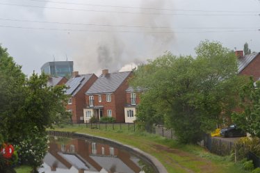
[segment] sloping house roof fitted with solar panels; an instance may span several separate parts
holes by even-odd
[[[65,94],[71,94],[74,96],[81,88],[83,85],[85,85],[88,80],[91,78],[92,75],[95,74],[81,74],[79,76],[71,78],[67,83],[65,84],[69,89],[66,90]]]

